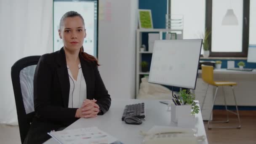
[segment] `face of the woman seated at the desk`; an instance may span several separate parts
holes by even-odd
[[[59,37],[69,51],[80,50],[86,37],[82,19],[79,16],[67,17],[59,29]]]

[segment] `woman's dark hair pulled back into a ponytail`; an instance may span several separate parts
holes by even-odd
[[[68,18],[68,17],[75,17],[75,16],[79,16],[82,19],[83,26],[85,27],[85,21],[83,19],[83,16],[80,15],[80,13],[77,13],[76,11],[68,11],[67,13],[65,13],[61,17],[61,21],[59,22],[59,29],[61,29],[61,26],[64,25],[64,21],[65,21],[66,18]],[[82,58],[85,61],[95,62],[99,66],[98,60],[94,56],[91,56],[88,53],[84,52],[83,46],[80,48],[79,54],[82,56]]]

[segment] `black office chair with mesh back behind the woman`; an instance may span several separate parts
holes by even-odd
[[[11,80],[16,102],[21,143],[29,131],[34,110],[34,74],[40,56],[22,58],[11,67]]]

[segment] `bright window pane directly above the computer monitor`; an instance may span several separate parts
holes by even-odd
[[[184,3],[189,7],[184,6]],[[183,15],[183,39],[203,38],[205,0],[171,0],[171,15]],[[203,54],[203,49],[201,54]]]

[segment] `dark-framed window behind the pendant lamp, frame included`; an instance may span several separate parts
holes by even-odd
[[[238,25],[221,25],[233,9]],[[246,57],[248,51],[248,0],[206,0],[206,27],[211,29],[210,56]]]

